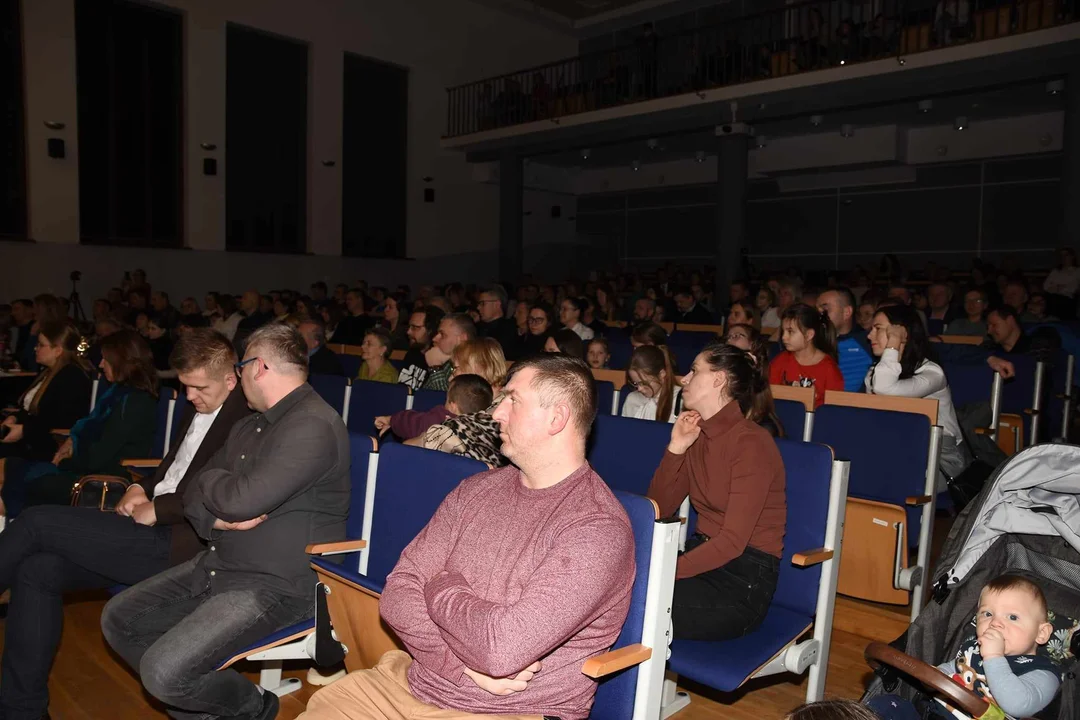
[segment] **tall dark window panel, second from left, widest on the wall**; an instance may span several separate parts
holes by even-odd
[[[183,18],[121,0],[77,0],[82,242],[183,241]]]

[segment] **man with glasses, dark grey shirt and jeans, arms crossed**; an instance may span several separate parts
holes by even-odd
[[[283,323],[266,325],[235,369],[255,415],[184,493],[206,549],[112,598],[102,616],[109,644],[173,717],[276,717],[273,692],[215,668],[312,615],[305,548],[345,533],[349,435],[307,383],[303,339]]]

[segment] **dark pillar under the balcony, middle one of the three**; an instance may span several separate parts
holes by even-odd
[[[742,275],[746,247],[746,163],[750,127],[730,123],[716,127],[716,284],[717,310],[727,308],[731,283]]]

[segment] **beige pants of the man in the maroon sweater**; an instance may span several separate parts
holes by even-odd
[[[407,652],[392,650],[369,670],[350,673],[316,692],[300,716],[306,720],[542,720],[538,715],[476,715],[444,710],[413,697]]]

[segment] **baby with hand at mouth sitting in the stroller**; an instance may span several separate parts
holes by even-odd
[[[1042,589],[1023,575],[999,575],[980,593],[974,635],[964,638],[954,661],[937,669],[1013,717],[1034,716],[1061,685],[1057,666],[1036,654],[1053,630]],[[885,720],[919,717],[895,695],[874,697],[869,707]],[[937,717],[954,717],[944,704],[931,707]]]

